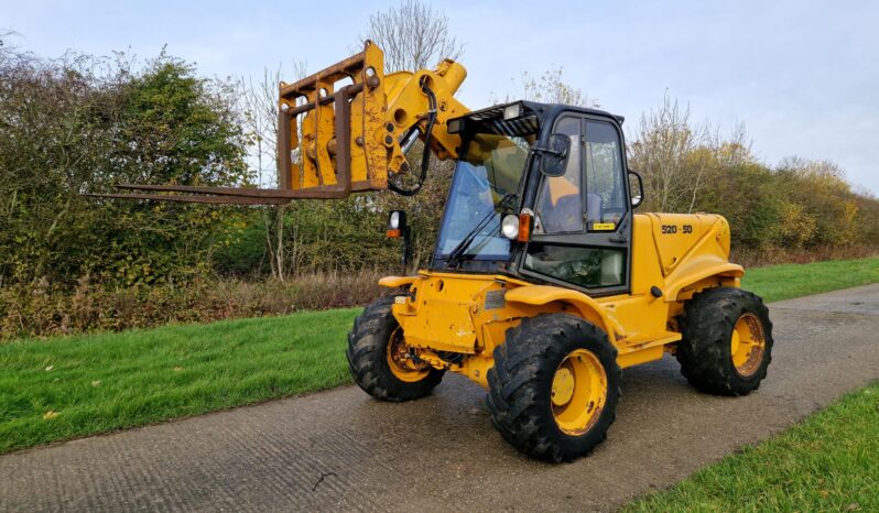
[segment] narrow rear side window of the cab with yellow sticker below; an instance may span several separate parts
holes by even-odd
[[[612,124],[586,121],[586,218],[589,230],[612,230],[628,211],[620,140]]]

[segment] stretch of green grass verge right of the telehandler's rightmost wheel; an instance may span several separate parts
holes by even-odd
[[[879,258],[749,269],[742,288],[773,302],[879,282]]]

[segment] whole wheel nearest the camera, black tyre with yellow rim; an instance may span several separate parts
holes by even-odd
[[[488,371],[488,408],[501,436],[540,459],[571,461],[604,440],[620,392],[607,335],[571,315],[522,319]]]

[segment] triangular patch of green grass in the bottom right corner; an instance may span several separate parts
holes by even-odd
[[[879,383],[622,509],[879,511]]]

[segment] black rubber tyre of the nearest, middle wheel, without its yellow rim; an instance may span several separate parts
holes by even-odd
[[[560,462],[587,455],[607,437],[622,395],[617,350],[607,335],[579,317],[544,314],[522,319],[506,338],[495,348],[495,367],[488,371],[487,404],[495,427],[534,458]],[[590,351],[600,362],[607,388],[597,421],[584,433],[571,435],[555,421],[551,394],[560,364],[578,349]]]

